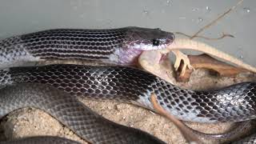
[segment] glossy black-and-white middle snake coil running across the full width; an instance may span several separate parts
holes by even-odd
[[[84,98],[131,102],[153,110],[150,95],[170,114],[190,122],[241,122],[255,118],[256,84],[193,91],[124,66],[50,65],[0,71],[1,86],[39,82]]]

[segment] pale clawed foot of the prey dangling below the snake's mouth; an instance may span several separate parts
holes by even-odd
[[[176,60],[174,63],[174,69],[178,70],[178,67],[181,66],[181,62],[184,62],[184,65],[182,66],[181,75],[184,75],[186,72],[186,67],[190,70],[194,70],[194,67],[190,65],[190,59],[187,57],[186,54],[183,54],[180,50],[171,50],[175,56]]]

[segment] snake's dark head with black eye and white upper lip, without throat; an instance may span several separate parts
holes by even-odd
[[[164,49],[174,41],[173,33],[159,28],[129,27],[126,34],[126,46],[137,50]]]

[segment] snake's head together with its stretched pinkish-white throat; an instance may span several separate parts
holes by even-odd
[[[143,51],[164,50],[174,41],[174,34],[160,29],[128,27],[121,47],[110,54],[110,61],[122,65],[138,66]]]

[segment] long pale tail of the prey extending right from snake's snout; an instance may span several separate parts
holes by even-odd
[[[216,58],[220,58],[226,62],[230,62],[245,70],[249,70],[251,72],[256,73],[256,67],[250,66],[249,64],[242,62],[242,60],[238,58],[234,58],[234,56],[231,56],[230,54],[226,54],[221,50],[217,50],[213,46],[207,45],[206,43],[203,43],[203,42],[194,41],[189,38],[176,38],[174,39],[174,42],[172,42],[169,46],[167,46],[167,49],[168,50],[181,50],[181,49],[197,50],[206,54],[210,54],[211,56],[214,56]]]

